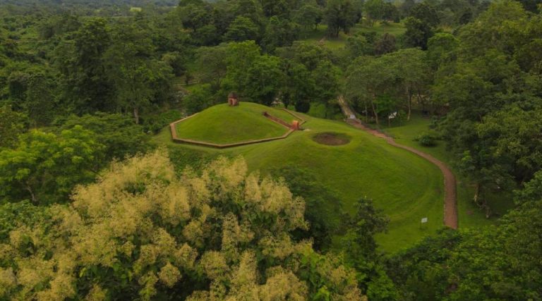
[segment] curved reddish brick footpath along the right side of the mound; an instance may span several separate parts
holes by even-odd
[[[358,118],[355,117],[356,115],[354,111],[350,108],[347,102],[344,101],[343,97],[339,97],[338,102],[342,108],[344,115],[347,116],[346,122],[349,125],[352,125],[355,128],[359,128],[360,130],[365,130],[367,133],[371,133],[376,137],[383,138],[387,141],[388,144],[393,145],[394,147],[406,149],[411,153],[417,154],[418,156],[421,156],[423,159],[430,161],[431,163],[438,166],[438,168],[440,168],[440,171],[442,171],[442,175],[444,176],[444,224],[445,226],[448,226],[450,228],[457,229],[458,222],[456,182],[454,173],[450,171],[450,168],[448,168],[446,164],[442,163],[442,161],[435,159],[435,157],[431,156],[430,154],[420,152],[418,149],[407,147],[406,145],[400,145],[395,142],[392,137],[385,135],[384,133],[380,133],[378,130],[373,130],[366,127],[365,125],[363,125],[363,123],[361,123]]]

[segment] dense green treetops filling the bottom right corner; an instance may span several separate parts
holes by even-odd
[[[392,259],[389,274],[404,300],[536,300],[541,204],[522,205],[498,227],[443,231]]]

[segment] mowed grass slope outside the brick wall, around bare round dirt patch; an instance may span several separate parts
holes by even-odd
[[[442,228],[443,180],[436,166],[342,122],[308,115],[303,118],[307,121],[303,125],[306,130],[292,133],[287,139],[230,149],[177,145],[171,142],[167,128],[153,140],[186,154],[243,156],[251,171],[263,174],[287,166],[306,168],[336,193],[350,214],[354,214],[358,199],[369,197],[391,219],[388,232],[378,235],[381,248],[387,252],[409,247]],[[313,141],[313,135],[324,132],[341,133],[352,139],[341,146]],[[420,227],[423,217],[429,219],[426,228]],[[330,216],[339,218],[339,212]]]

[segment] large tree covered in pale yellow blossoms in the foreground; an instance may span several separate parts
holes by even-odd
[[[0,299],[362,300],[340,258],[291,238],[304,206],[243,159],[176,176],[135,156],[0,240]]]

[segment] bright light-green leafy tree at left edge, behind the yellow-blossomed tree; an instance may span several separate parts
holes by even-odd
[[[95,178],[103,145],[80,125],[56,136],[33,130],[0,152],[0,196],[33,204],[65,202],[73,187]]]

